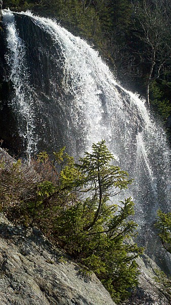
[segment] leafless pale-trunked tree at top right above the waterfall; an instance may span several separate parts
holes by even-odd
[[[158,78],[166,62],[171,58],[169,0],[136,1],[133,11],[135,36],[143,42],[142,55],[149,63],[146,80],[146,98],[149,105],[149,87],[154,72],[155,78]]]

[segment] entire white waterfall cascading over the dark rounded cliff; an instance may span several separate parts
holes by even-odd
[[[9,104],[25,152],[65,145],[78,158],[92,142],[105,139],[117,164],[134,179],[127,195],[136,203],[140,240],[150,244],[156,210],[166,211],[170,202],[170,152],[162,128],[84,40],[30,12],[3,11],[3,22],[13,84]]]

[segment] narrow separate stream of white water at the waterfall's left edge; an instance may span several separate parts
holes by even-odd
[[[14,15],[11,12],[4,13],[4,22],[7,26],[9,49],[6,60],[10,67],[10,74],[7,76],[7,80],[13,83],[14,88],[11,106],[18,117],[20,136],[27,142],[25,153],[30,156],[36,149],[35,126],[33,124],[35,113],[31,110],[32,100],[29,99],[31,88],[29,87],[29,76],[24,60],[25,48],[18,36]]]

